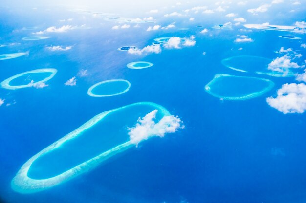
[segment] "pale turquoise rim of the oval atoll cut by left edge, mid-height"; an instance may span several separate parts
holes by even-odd
[[[30,83],[26,84],[26,85],[11,85],[10,82],[16,78],[19,78],[23,75],[26,74],[39,74],[39,73],[50,73],[49,76],[45,77],[42,80],[39,81],[31,81]],[[36,69],[36,70],[32,70],[32,71],[27,71],[27,72],[23,72],[21,74],[16,74],[12,77],[9,77],[7,79],[5,79],[4,81],[1,82],[1,87],[8,89],[8,90],[16,90],[16,89],[21,89],[21,88],[28,88],[28,87],[38,87],[40,84],[43,84],[44,82],[50,80],[52,77],[54,77],[54,75],[57,73],[57,70],[54,68],[44,68],[44,69]]]

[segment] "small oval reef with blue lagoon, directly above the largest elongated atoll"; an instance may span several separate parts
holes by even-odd
[[[131,83],[128,80],[113,79],[98,82],[91,86],[87,94],[93,97],[116,96],[128,92]]]

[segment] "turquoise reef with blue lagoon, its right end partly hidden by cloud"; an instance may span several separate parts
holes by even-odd
[[[272,60],[269,58],[253,56],[253,55],[233,56],[225,58],[221,61],[221,63],[227,68],[239,72],[265,74],[272,77],[294,76],[294,73],[290,69],[287,69],[285,73],[269,70],[268,65],[271,62]]]

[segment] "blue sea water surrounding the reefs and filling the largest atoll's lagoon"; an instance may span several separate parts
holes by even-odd
[[[131,24],[129,29],[112,30],[116,24],[101,18],[83,18],[83,14],[62,8],[40,9],[29,14],[22,9],[0,8],[0,44],[17,43],[0,47],[0,54],[29,51],[28,55],[0,61],[0,81],[35,69],[58,70],[42,89],[0,89],[0,98],[5,99],[0,106],[0,199],[4,203],[306,201],[306,114],[283,114],[265,100],[274,96],[282,84],[295,82],[294,77],[243,73],[221,63],[222,59],[239,55],[272,59],[279,56],[274,51],[282,46],[305,55],[305,49],[297,40],[278,37],[285,35],[281,31],[240,31],[243,26],[233,27],[233,30],[211,29],[215,24],[227,22],[219,16],[196,22],[176,20],[176,28],[188,27],[189,30],[147,32],[151,24],[140,24],[140,28],[132,28],[134,24]],[[288,18],[281,14],[274,17],[275,24],[292,24],[305,20],[305,13]],[[51,26],[60,27],[67,23],[58,21],[64,18],[74,18],[70,24],[86,24],[90,29],[47,33],[44,36],[50,38],[43,40],[22,40],[33,32],[22,30],[23,27],[37,26],[35,32]],[[251,19],[254,23],[268,19],[264,15],[249,18],[250,23]],[[159,23],[167,25],[174,21],[167,20]],[[203,28],[198,25],[209,28],[211,35],[199,34]],[[139,29],[137,34],[135,29]],[[234,43],[237,34],[248,35],[254,42]],[[131,55],[117,50],[127,45],[142,48],[158,37],[191,35],[196,36],[195,46],[163,49],[160,54]],[[305,35],[294,35],[305,43]],[[46,49],[57,45],[71,45],[72,49],[58,52]],[[243,47],[241,51],[240,47]],[[134,61],[148,61],[154,65],[139,70],[126,67]],[[256,68],[253,63],[249,66]],[[87,76],[77,76],[81,70],[87,70]],[[220,100],[204,90],[216,74],[261,77],[270,79],[275,85],[253,99]],[[64,83],[74,76],[77,76],[77,85],[65,86]],[[128,80],[131,87],[128,92],[113,97],[87,94],[89,87],[109,79]],[[44,191],[22,194],[12,190],[12,179],[32,156],[99,113],[144,101],[162,105],[172,115],[179,116],[185,128],[163,138],[143,141],[89,172]],[[8,103],[11,105],[6,106]],[[140,112],[114,114],[109,123],[84,134],[88,139],[93,137],[92,140],[79,140],[72,143],[71,148],[62,148],[65,156],[59,152],[50,153],[50,157],[37,161],[29,176],[45,178],[57,174],[80,160],[83,162],[88,154],[126,141],[125,130],[132,126],[132,120],[136,122],[139,116],[143,117],[145,111]],[[112,138],[96,137],[101,131]],[[101,148],[98,142],[102,143]],[[87,146],[94,146],[97,151],[88,151]],[[69,157],[71,151],[73,155]],[[61,157],[56,157],[57,153]],[[60,166],[51,170],[50,167],[57,163]]]

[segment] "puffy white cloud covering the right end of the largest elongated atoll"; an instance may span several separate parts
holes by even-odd
[[[179,117],[164,116],[157,123],[155,122],[158,110],[145,115],[143,118],[138,118],[134,127],[128,128],[130,141],[138,145],[141,141],[147,140],[150,137],[164,137],[166,133],[174,133],[180,128],[184,128]]]

